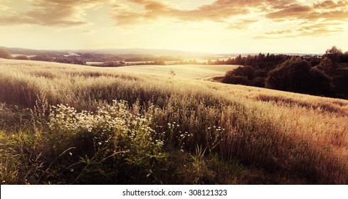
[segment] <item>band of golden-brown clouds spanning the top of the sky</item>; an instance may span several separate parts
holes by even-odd
[[[15,0],[19,1],[19,0]],[[29,0],[27,0],[29,1]],[[194,9],[184,9],[169,0],[41,0],[30,1],[28,11],[0,14],[0,26],[35,24],[40,26],[83,26],[87,9],[110,6],[110,19],[115,26],[133,27],[166,21],[168,24],[213,21],[233,30],[254,31],[253,28],[275,28],[259,37],[320,36],[339,33],[347,26],[348,0],[216,0]],[[309,3],[312,2],[312,3]],[[8,4],[0,5],[6,9]],[[16,8],[10,8],[16,11]],[[292,23],[294,30],[286,27]],[[336,24],[333,24],[336,23]],[[295,25],[294,25],[295,24]],[[321,27],[315,27],[319,26]],[[285,27],[284,27],[285,26]]]

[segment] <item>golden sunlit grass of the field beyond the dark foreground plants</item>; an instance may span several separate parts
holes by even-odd
[[[92,68],[0,59],[0,101],[33,107],[44,94],[49,104],[79,111],[113,99],[140,102],[146,111],[152,102],[159,107],[152,112],[158,131],[177,122],[176,131],[194,134],[187,150],[196,143],[213,148],[218,137],[214,150],[225,158],[307,183],[348,183],[348,101],[202,80],[233,67]]]

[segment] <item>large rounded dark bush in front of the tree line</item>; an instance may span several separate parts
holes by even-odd
[[[332,80],[301,58],[291,58],[268,73],[265,87],[311,95],[332,96]]]

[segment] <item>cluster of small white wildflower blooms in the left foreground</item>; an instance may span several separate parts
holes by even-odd
[[[132,114],[127,102],[97,107],[96,112],[77,112],[68,104],[51,107],[49,127],[65,136],[76,136],[88,132],[93,135],[96,154],[100,151],[124,151],[122,158],[136,166],[151,167],[151,160],[167,158],[162,150],[164,134],[152,127],[152,115]],[[105,149],[112,147],[113,149]],[[104,158],[107,154],[102,155]]]

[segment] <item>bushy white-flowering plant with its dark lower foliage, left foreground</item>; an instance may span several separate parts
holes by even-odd
[[[47,119],[41,122],[42,129],[49,129],[41,133],[46,146],[41,155],[54,162],[65,154],[54,169],[70,171],[64,177],[70,183],[129,183],[130,176],[154,183],[149,176],[167,160],[164,134],[154,130],[152,115],[133,114],[125,101],[113,100],[96,112],[58,104],[51,106]]]

